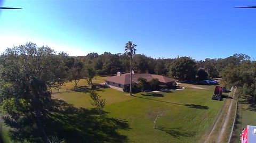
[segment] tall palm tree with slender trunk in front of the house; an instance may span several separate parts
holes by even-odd
[[[124,47],[124,51],[125,53],[130,56],[130,63],[131,63],[131,67],[130,67],[130,95],[132,95],[132,55],[135,55],[135,51],[137,51],[137,49],[135,49],[137,45],[136,44],[132,44],[132,41],[128,41],[127,43],[125,43],[125,47]]]

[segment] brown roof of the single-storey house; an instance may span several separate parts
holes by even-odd
[[[150,81],[153,78],[157,78],[160,82],[167,83],[167,82],[173,82],[175,81],[174,79],[164,77],[162,75],[156,75],[156,74],[149,74],[149,73],[141,73],[141,74],[132,74],[132,82],[133,83],[138,83],[138,78],[145,78],[147,81]],[[115,82],[119,83],[122,85],[129,85],[130,84],[130,74],[125,73],[122,74],[121,76],[113,76],[113,77],[108,77],[106,81],[110,82]]]

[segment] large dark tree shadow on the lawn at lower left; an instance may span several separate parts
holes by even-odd
[[[65,142],[127,142],[127,137],[118,130],[129,130],[129,124],[122,119],[101,116],[95,109],[76,108],[62,100],[51,100],[41,117],[47,137]],[[19,120],[4,118],[5,124],[12,127],[10,138],[16,142],[43,142],[42,134],[36,126],[33,115],[27,113]]]

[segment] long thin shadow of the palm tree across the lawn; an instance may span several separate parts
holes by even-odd
[[[142,94],[141,94],[141,95],[142,95]],[[203,106],[203,105],[199,105],[199,104],[180,104],[180,103],[166,102],[166,101],[163,101],[163,100],[145,98],[145,97],[140,97],[140,96],[135,96],[135,95],[132,95],[132,96],[137,97],[137,98],[147,99],[147,100],[154,100],[154,101],[156,101],[156,102],[163,102],[163,103],[169,103],[169,104],[187,106],[187,107],[189,107],[189,108],[196,108],[196,109],[200,109],[200,110],[208,110],[208,109],[209,109],[208,106]]]

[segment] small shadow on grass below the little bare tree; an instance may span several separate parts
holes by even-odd
[[[170,134],[170,136],[174,138],[179,137],[194,137],[196,135],[195,132],[188,132],[188,131],[182,131],[180,128],[164,128],[164,127],[158,127],[155,128],[157,130],[161,130],[166,132],[167,134]]]

